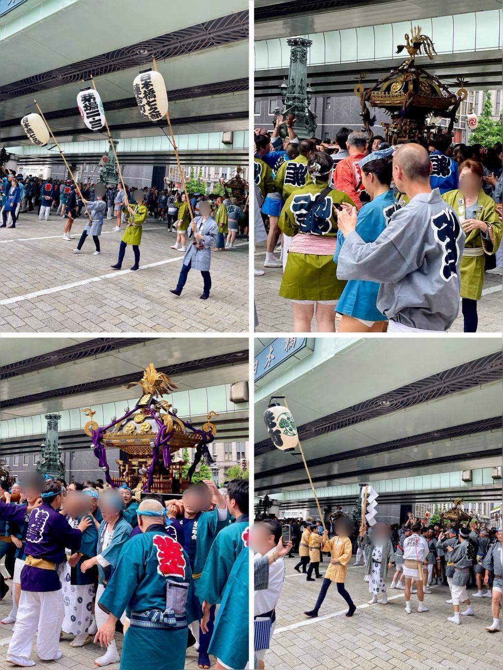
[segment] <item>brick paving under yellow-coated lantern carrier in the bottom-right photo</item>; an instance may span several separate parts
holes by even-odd
[[[389,588],[393,576],[390,571],[386,580],[388,604],[369,606],[364,567],[352,567],[353,556],[345,583],[358,606],[353,617],[344,616],[347,606],[332,584],[319,618],[308,619],[302,612],[315,605],[323,580],[306,582],[305,576],[293,569],[297,561],[298,558],[286,558],[287,576],[276,607],[272,645],[266,652],[267,669],[461,670],[477,667],[501,670],[498,651],[501,634],[490,635],[485,630],[492,623],[490,598],[472,598],[476,616],[461,617],[461,624],[456,626],[447,621],[447,616],[452,616],[452,606],[445,603],[449,589],[432,586],[433,593],[425,594],[429,612],[414,612],[417,597],[412,595],[412,614],[406,614],[404,592]],[[322,574],[327,567],[325,557],[324,561],[320,565]],[[364,607],[360,608],[361,605]],[[462,605],[461,610],[464,609]],[[306,622],[306,625],[282,630],[298,622]]]

